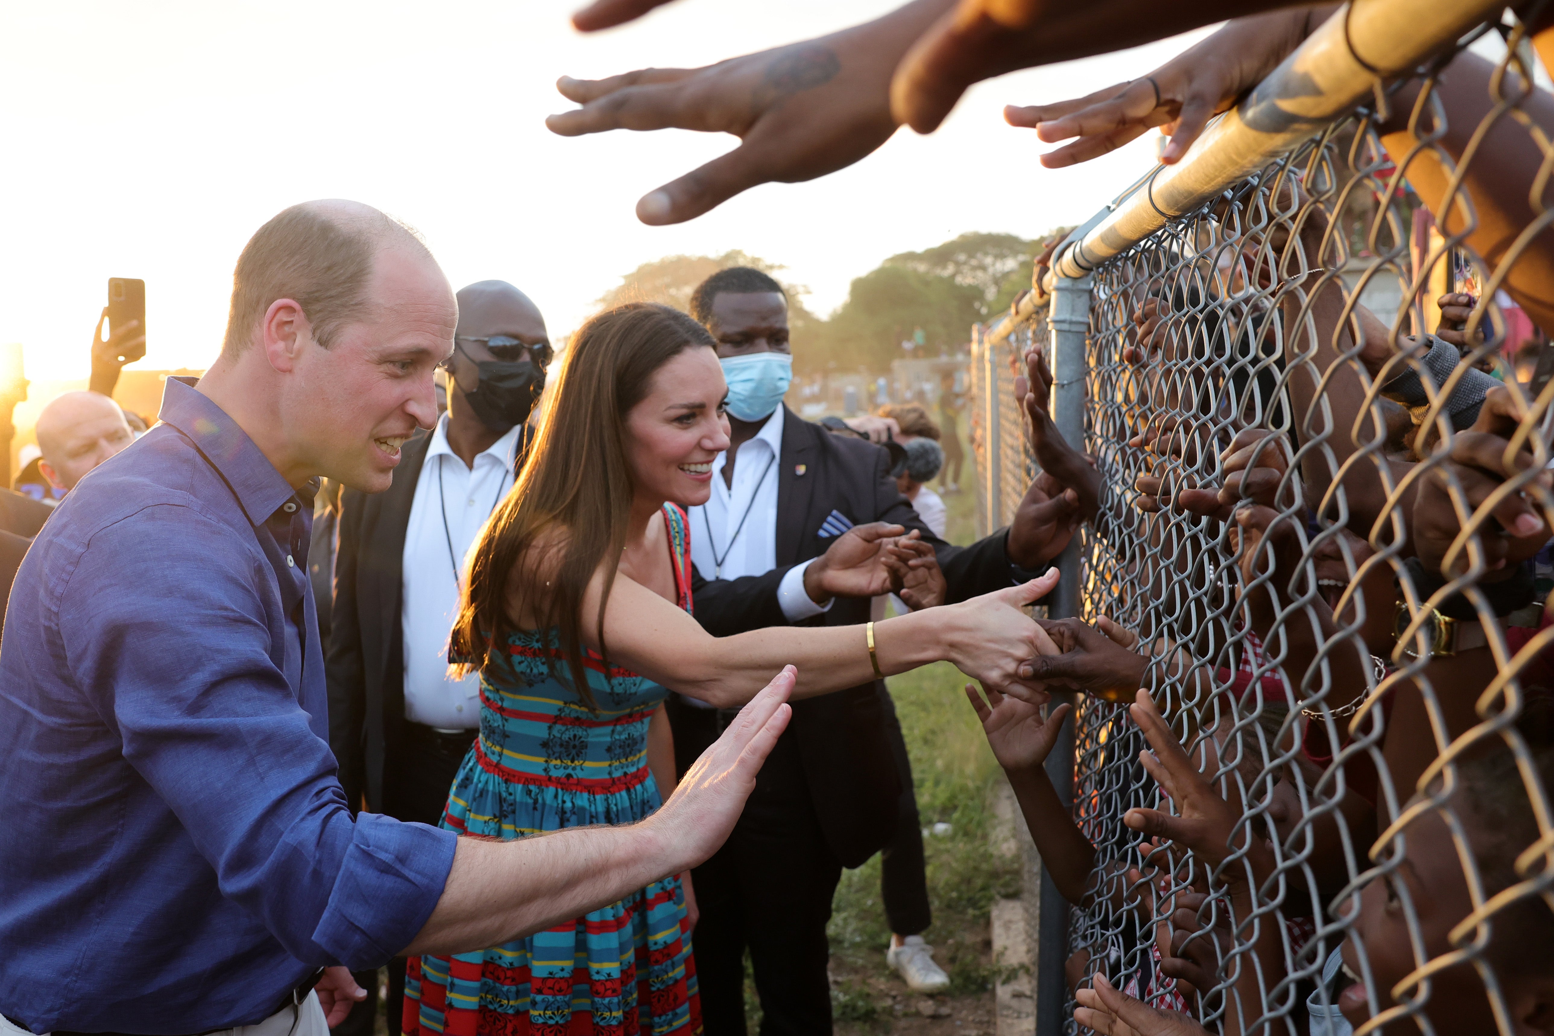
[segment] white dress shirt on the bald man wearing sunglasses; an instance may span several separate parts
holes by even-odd
[[[441,730],[480,725],[480,677],[449,677],[448,637],[458,612],[465,555],[513,488],[513,450],[521,432],[514,426],[477,454],[474,471],[448,446],[446,413],[432,432],[404,530],[399,621],[404,629],[404,714],[412,722]]]

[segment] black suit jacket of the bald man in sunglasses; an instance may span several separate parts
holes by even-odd
[[[401,447],[404,457],[385,491],[340,494],[325,676],[329,747],[351,809],[365,795],[367,809],[382,811],[384,764],[398,753],[404,733],[404,534],[430,443],[430,432],[416,432]],[[528,443],[525,426],[519,464]]]

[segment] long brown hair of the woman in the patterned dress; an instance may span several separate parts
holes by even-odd
[[[646,398],[660,367],[687,348],[702,346],[713,348],[706,328],[678,309],[651,303],[601,312],[572,335],[517,485],[480,531],[451,657],[483,669],[493,652],[502,651],[514,631],[511,579],[514,610],[535,615],[539,629],[559,631],[572,683],[583,702],[597,708],[583,666],[583,593],[603,562],[595,637],[605,654],[605,604],[631,519],[626,415]],[[541,539],[549,542],[556,531],[566,533],[558,559],[530,553],[536,545],[542,550]]]

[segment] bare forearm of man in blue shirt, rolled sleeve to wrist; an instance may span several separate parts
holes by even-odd
[[[651,820],[514,842],[458,839],[432,916],[401,955],[468,954],[580,918],[692,865]]]

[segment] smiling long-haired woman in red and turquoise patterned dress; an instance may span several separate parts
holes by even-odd
[[[1018,607],[1057,570],[869,635],[706,634],[690,617],[682,508],[710,495],[729,446],[726,393],[712,335],[667,306],[623,306],[573,335],[533,454],[471,553],[449,657],[480,671],[480,736],[441,826],[519,839],[645,819],[674,787],[668,688],[732,707],[788,663],[799,699],[949,660],[1018,690],[1023,662],[1055,654]],[[859,596],[887,589],[886,550],[880,541],[848,570]],[[699,1033],[688,892],[685,876],[665,874],[500,946],[412,960],[404,1028]]]

